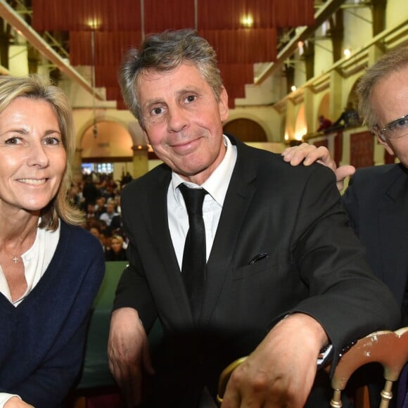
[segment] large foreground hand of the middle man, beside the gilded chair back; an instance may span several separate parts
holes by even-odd
[[[233,372],[222,408],[303,407],[328,338],[307,314],[291,314]]]

